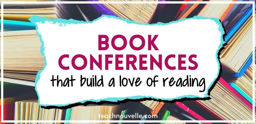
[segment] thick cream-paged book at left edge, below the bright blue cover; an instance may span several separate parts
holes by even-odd
[[[36,30],[5,32],[4,81],[34,86],[36,74],[44,66],[40,48]]]

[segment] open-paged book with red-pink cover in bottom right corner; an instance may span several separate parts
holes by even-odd
[[[211,99],[198,100],[203,106],[209,108],[224,120],[250,120],[252,119],[252,105],[222,78],[211,91]]]

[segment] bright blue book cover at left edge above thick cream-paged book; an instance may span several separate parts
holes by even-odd
[[[0,25],[0,28],[1,28],[1,25]],[[35,29],[36,29],[36,26],[31,22],[4,20],[4,30],[21,31],[21,30],[35,30]]]

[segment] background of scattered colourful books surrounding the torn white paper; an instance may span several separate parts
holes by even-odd
[[[4,4],[4,120],[252,120],[252,9],[252,4]],[[140,23],[167,23],[196,15],[219,18],[228,45],[220,53],[221,78],[211,91],[212,99],[175,103],[147,100],[69,109],[38,106],[34,81],[44,58],[35,26],[28,18],[39,15],[92,21],[103,14]],[[157,114],[158,118],[102,119],[99,113]]]

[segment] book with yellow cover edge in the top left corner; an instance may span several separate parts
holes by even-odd
[[[15,1],[15,0],[11,0]],[[29,0],[21,0],[29,1]],[[36,0],[55,1],[55,0]],[[82,15],[75,4],[4,4],[4,19],[29,21],[32,15],[47,18],[64,18],[83,20]]]

